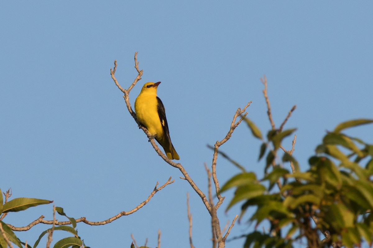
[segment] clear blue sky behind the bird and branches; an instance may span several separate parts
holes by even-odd
[[[91,247],[129,247],[148,238],[156,247],[189,247],[186,192],[191,198],[195,247],[210,247],[210,218],[203,203],[148,143],[126,110],[127,88],[134,104],[141,86],[162,81],[158,96],[166,107],[180,162],[206,191],[206,147],[229,130],[238,107],[253,101],[248,116],[270,128],[260,78],[265,74],[273,117],[279,125],[291,107],[287,128],[297,127],[295,157],[303,170],[326,130],[339,122],[372,118],[372,1],[3,1],[0,3],[0,187],[15,197],[54,200],[72,217],[108,219],[144,201],[157,181],[175,183],[159,191],[138,212],[104,226],[78,224]],[[133,105],[132,105],[133,106]],[[286,128],[285,127],[285,128]],[[351,135],[373,142],[372,126]],[[245,124],[222,151],[262,173],[260,143]],[[291,140],[284,144],[290,148]],[[238,173],[218,159],[220,183]],[[239,213],[220,208],[222,225]],[[11,213],[5,222],[28,225],[52,206]],[[245,220],[230,237],[249,232]],[[58,218],[64,220],[64,218]],[[17,233],[34,244],[47,229]],[[55,232],[55,240],[59,236]],[[43,241],[44,242],[44,241]],[[228,242],[241,247],[244,240]],[[44,243],[45,244],[45,243]],[[302,245],[300,245],[302,247]],[[43,247],[43,246],[42,246]]]

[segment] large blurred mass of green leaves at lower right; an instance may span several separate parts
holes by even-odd
[[[246,122],[254,137],[263,141],[259,160],[266,158],[264,177],[257,180],[254,173],[240,173],[222,191],[235,189],[228,209],[243,202],[240,219],[254,206],[250,222],[270,225],[264,228],[268,231],[248,233],[244,247],[292,247],[294,241],[302,238],[310,248],[332,243],[360,247],[363,241],[372,246],[373,145],[341,131],[373,120],[350,120],[337,125],[323,137],[304,172],[292,154],[279,149],[283,139],[295,129],[270,130],[264,141],[254,123]],[[292,172],[283,168],[282,162],[290,162]],[[323,233],[330,235],[325,238]]]

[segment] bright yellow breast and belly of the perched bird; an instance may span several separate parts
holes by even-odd
[[[137,119],[144,125],[151,135],[163,135],[163,128],[158,115],[157,95],[141,93],[135,101],[135,112]]]

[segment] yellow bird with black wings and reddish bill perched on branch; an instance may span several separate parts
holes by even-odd
[[[160,83],[148,82],[142,86],[135,101],[135,112],[139,122],[163,147],[167,158],[179,160],[180,157],[171,143],[163,103],[157,97],[157,87]]]

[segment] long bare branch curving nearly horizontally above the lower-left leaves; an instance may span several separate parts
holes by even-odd
[[[130,215],[134,212],[136,212],[137,210],[139,210],[141,207],[145,206],[145,204],[147,204],[150,199],[154,196],[154,194],[156,194],[158,191],[162,190],[164,187],[166,187],[167,185],[173,183],[175,180],[172,180],[171,181],[171,177],[167,180],[166,183],[164,183],[162,186],[160,186],[159,188],[157,188],[158,186],[158,182],[156,184],[156,187],[154,188],[154,190],[151,192],[150,196],[148,196],[148,198],[140,203],[137,207],[135,207],[134,209],[132,209],[131,211],[128,211],[128,212],[125,212],[125,211],[122,211],[120,213],[118,213],[117,215],[113,216],[112,218],[109,218],[107,220],[103,220],[103,221],[97,221],[97,222],[92,222],[92,221],[89,221],[87,219],[85,219],[85,217],[81,217],[79,219],[76,219],[76,222],[83,222],[83,223],[86,223],[88,225],[91,225],[91,226],[98,226],[98,225],[105,225],[107,223],[110,223],[110,222],[113,222],[114,220],[116,219],[119,219],[120,217],[122,216],[125,216],[125,215]],[[53,223],[57,226],[62,226],[62,225],[70,225],[71,222],[70,221],[59,221],[59,222],[54,222],[53,220],[44,220],[44,216],[40,216],[38,219],[34,220],[33,222],[31,222],[29,225],[27,226],[23,226],[23,227],[16,227],[16,226],[12,226],[12,225],[9,225],[7,224],[13,231],[27,231],[29,230],[30,228],[32,228],[33,226],[39,224],[39,223],[43,223],[43,224],[49,224],[49,225],[52,225]]]

